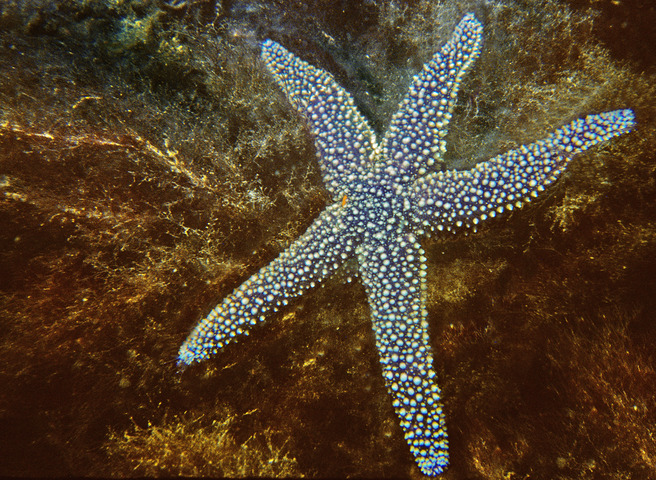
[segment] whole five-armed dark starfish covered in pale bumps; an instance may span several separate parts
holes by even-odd
[[[426,321],[426,258],[418,236],[459,231],[536,197],[571,158],[634,125],[631,110],[589,115],[546,139],[471,170],[428,172],[445,151],[460,81],[480,54],[481,23],[467,14],[424,65],[379,144],[334,78],[276,42],[262,59],[315,137],[334,203],[271,264],[200,321],[180,347],[181,367],[207,359],[268,314],[314,287],[352,256],[365,285],[387,390],[417,465],[448,465],[440,389]]]

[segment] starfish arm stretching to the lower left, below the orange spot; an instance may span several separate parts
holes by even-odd
[[[178,352],[185,367],[206,360],[251,326],[321,282],[352,256],[355,244],[340,204],[328,207],[273,262],[246,280],[201,320]]]

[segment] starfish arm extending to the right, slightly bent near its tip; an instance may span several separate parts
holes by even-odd
[[[541,140],[471,170],[436,172],[415,182],[409,204],[420,230],[456,232],[538,196],[584,150],[631,130],[631,110],[588,115]]]

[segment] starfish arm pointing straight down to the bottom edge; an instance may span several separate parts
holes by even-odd
[[[387,390],[425,475],[449,463],[445,417],[433,370],[425,308],[425,258],[413,234],[357,249]]]

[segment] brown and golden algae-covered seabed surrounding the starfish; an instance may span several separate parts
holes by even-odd
[[[638,126],[535,203],[426,243],[444,477],[653,476],[656,82],[601,44],[611,20],[552,1],[208,5],[2,7],[0,473],[418,476],[357,282],[174,361],[326,201],[255,40],[334,73],[381,128],[473,10],[485,47],[447,165],[587,113]]]

